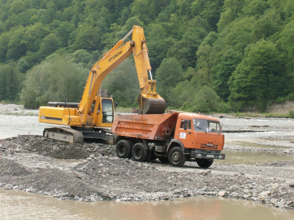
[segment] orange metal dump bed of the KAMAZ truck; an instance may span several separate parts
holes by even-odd
[[[111,131],[119,136],[164,141],[173,135],[178,114],[116,115]]]

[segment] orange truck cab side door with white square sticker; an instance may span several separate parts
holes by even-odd
[[[178,123],[176,126],[176,132],[175,132],[175,139],[178,139],[182,141],[185,147],[191,146],[191,143],[193,142],[193,132],[191,127],[191,120],[188,119],[188,126],[187,130],[184,130],[183,123],[181,121],[183,118],[178,118]],[[186,119],[187,120],[187,119]]]

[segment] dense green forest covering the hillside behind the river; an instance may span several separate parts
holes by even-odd
[[[0,0],[0,101],[79,102],[91,67],[137,25],[169,109],[266,112],[294,99],[293,13],[294,0]],[[102,89],[138,107],[132,57]]]

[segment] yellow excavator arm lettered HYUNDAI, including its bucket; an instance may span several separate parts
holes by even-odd
[[[131,34],[132,40],[126,42],[121,46],[123,41]],[[117,67],[123,60],[131,54],[134,55],[136,64],[139,85],[141,94],[138,97],[140,106],[140,114],[161,114],[166,109],[166,102],[155,91],[156,81],[152,79],[151,67],[148,58],[148,49],[146,46],[146,39],[144,37],[143,28],[133,26],[122,40],[118,41],[116,45],[105,53],[91,69],[87,79],[86,87],[83,92],[81,102],[78,105],[80,114],[83,114],[83,123],[86,122],[87,114],[91,109],[91,105],[96,97],[104,77],[115,67]],[[150,73],[150,80],[148,79],[148,71]],[[97,96],[97,101],[99,96]]]

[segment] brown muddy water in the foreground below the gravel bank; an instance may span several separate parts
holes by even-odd
[[[1,220],[148,219],[241,220],[293,219],[293,213],[241,199],[189,197],[157,202],[62,201],[22,191],[0,189]],[[5,207],[5,209],[3,209]]]

